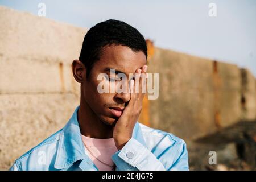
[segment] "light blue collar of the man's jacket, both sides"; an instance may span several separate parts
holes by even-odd
[[[81,138],[79,122],[77,119],[78,110],[79,106],[76,107],[72,117],[60,133],[59,146],[57,148],[54,164],[56,169],[68,168],[77,160],[89,160],[89,156],[85,154],[84,143]],[[138,122],[133,129],[133,138],[147,147]]]

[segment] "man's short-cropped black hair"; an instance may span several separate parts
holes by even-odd
[[[109,19],[90,28],[84,37],[79,60],[87,69],[87,77],[93,64],[100,60],[101,50],[107,45],[127,46],[133,51],[142,51],[147,58],[147,45],[143,35],[129,24]]]

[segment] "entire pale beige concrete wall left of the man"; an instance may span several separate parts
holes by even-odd
[[[71,63],[86,31],[0,6],[0,169],[61,129],[79,105]]]

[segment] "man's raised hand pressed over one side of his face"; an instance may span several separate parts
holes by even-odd
[[[135,73],[137,73],[135,74],[135,80],[138,80],[139,82],[135,82],[133,79],[129,82],[130,101],[113,127],[113,138],[118,150],[121,150],[122,147],[131,139],[135,123],[141,113],[142,101],[145,94],[142,92],[142,89],[146,88],[147,84],[146,72],[147,65],[144,65],[142,69],[137,69],[135,71]],[[139,92],[135,92],[136,89]]]

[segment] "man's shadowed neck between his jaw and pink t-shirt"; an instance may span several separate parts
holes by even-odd
[[[77,114],[81,134],[90,138],[113,138],[112,126],[105,125],[90,109],[86,101],[80,101]]]

